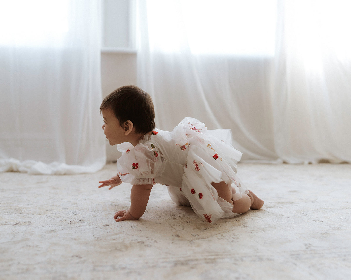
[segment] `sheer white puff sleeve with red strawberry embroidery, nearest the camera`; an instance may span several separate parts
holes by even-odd
[[[165,160],[158,148],[151,142],[135,147],[128,143],[117,145],[122,156],[117,160],[118,175],[122,182],[144,185],[155,184],[155,177],[161,176]]]

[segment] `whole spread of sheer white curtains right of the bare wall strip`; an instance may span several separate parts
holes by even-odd
[[[157,126],[191,116],[231,128],[243,160],[351,161],[342,3],[138,1],[138,84]]]

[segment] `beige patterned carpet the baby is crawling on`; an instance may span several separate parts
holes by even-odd
[[[351,279],[351,165],[239,164],[261,210],[201,222],[155,185],[139,221],[116,223],[115,174],[0,174],[0,279]]]

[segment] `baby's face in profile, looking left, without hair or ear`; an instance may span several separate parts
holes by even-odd
[[[102,118],[104,125],[102,129],[110,145],[117,145],[126,142],[126,136],[123,128],[119,124],[118,119],[114,116],[111,109],[102,110]]]

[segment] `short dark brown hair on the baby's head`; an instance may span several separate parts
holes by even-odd
[[[130,120],[135,133],[152,131],[155,125],[155,110],[151,96],[135,85],[121,86],[102,100],[102,110],[111,109],[121,126]]]

